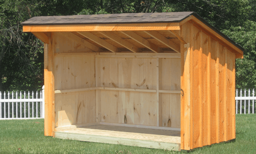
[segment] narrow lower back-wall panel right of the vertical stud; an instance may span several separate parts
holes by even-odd
[[[162,127],[181,127],[180,94],[160,94],[162,104]]]

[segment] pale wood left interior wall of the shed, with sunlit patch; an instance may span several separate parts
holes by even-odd
[[[53,33],[54,90],[95,87],[94,55],[69,55],[80,44]],[[55,127],[95,122],[95,91],[55,94]]]

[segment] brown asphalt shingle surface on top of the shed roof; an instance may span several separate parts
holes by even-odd
[[[180,22],[194,12],[93,14],[67,16],[39,16],[22,22],[22,25],[69,25]]]

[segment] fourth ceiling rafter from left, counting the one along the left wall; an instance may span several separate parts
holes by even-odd
[[[141,45],[147,47],[148,49],[152,50],[153,52],[158,53],[159,52],[159,47],[154,45],[153,43],[150,43],[143,37],[139,36],[138,34],[132,32],[132,31],[121,31],[121,33],[125,34],[126,36],[130,37],[134,41],[140,43]]]

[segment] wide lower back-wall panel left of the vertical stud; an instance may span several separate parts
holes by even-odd
[[[157,125],[156,94],[101,90],[101,105],[102,122]]]

